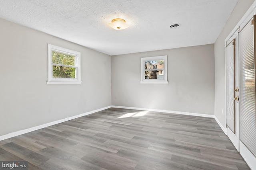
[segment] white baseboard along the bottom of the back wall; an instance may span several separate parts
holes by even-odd
[[[215,117],[214,115],[206,115],[206,114],[200,114],[200,113],[190,113],[190,112],[183,112],[183,111],[146,109],[146,108],[140,108],[140,107],[126,107],[126,106],[111,106],[111,107],[120,108],[120,109],[134,109],[134,110],[144,110],[144,111],[156,111],[156,112],[163,112],[163,113],[174,113],[174,114],[180,114],[180,115],[191,115],[191,116],[200,116],[200,117],[212,117],[212,118]]]

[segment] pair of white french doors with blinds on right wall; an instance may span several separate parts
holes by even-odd
[[[256,16],[249,16],[226,41],[227,135],[256,170]]]

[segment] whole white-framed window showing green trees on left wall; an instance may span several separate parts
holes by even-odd
[[[81,84],[81,53],[48,44],[47,84]]]

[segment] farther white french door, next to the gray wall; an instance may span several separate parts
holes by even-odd
[[[239,60],[238,30],[226,43],[226,127],[239,151]]]

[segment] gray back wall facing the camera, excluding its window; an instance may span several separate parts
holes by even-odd
[[[168,55],[168,84],[140,84],[140,58]],[[214,45],[112,56],[112,105],[214,114]]]

